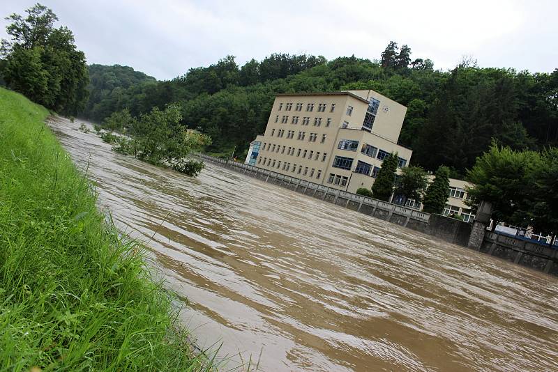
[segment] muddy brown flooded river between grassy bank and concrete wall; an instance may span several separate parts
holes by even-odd
[[[51,123],[224,370],[558,371],[556,277],[213,164],[160,169],[79,125]]]

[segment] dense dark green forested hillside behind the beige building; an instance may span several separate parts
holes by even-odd
[[[273,54],[239,66],[227,56],[170,81],[144,75],[121,84],[103,73],[93,82],[90,70],[95,101],[85,116],[102,121],[124,108],[137,116],[179,102],[184,124],[213,139],[208,150],[229,153],[234,146],[245,150],[263,132],[277,93],[372,88],[408,107],[400,144],[413,148],[414,164],[430,170],[445,164],[462,174],[492,138],[516,149],[558,144],[558,70],[517,72],[463,61],[441,71],[429,59],[410,56],[407,45],[398,48],[395,42],[377,61]],[[109,84],[112,89],[97,91]]]

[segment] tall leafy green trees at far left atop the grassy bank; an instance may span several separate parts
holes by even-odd
[[[10,88],[61,114],[82,111],[89,77],[85,55],[75,47],[67,27],[54,28],[56,15],[37,3],[27,17],[13,14],[6,27],[10,40],[2,40],[6,59],[3,79]]]

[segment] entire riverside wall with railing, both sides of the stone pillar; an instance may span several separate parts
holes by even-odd
[[[458,219],[442,215],[430,215],[412,208],[318,185],[300,178],[261,169],[257,166],[227,161],[200,153],[195,155],[208,162],[225,166],[266,183],[273,183],[365,215],[412,228],[456,245],[467,247],[469,235],[471,235],[472,225]],[[549,274],[558,275],[558,249],[487,231],[480,251]]]

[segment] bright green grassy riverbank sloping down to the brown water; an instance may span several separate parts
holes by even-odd
[[[0,88],[0,370],[202,369],[47,115]]]

